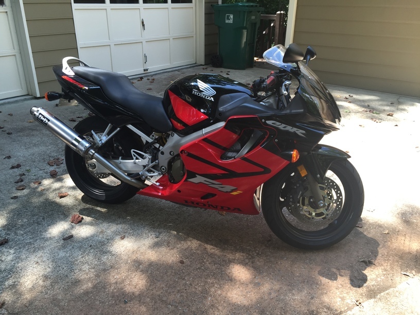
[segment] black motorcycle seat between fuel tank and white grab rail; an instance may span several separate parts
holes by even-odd
[[[162,132],[172,129],[162,97],[137,90],[127,76],[119,73],[88,66],[75,66],[72,69],[77,76],[100,86],[111,101],[141,116],[150,127]]]

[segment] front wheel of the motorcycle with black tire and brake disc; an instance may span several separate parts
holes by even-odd
[[[299,172],[290,167],[263,186],[262,210],[271,231],[291,246],[322,249],[338,243],[355,228],[363,210],[359,173],[347,160],[336,160],[319,185],[325,206],[296,197]]]

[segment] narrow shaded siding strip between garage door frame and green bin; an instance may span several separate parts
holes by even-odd
[[[204,9],[204,54],[205,64],[210,63],[213,55],[217,54],[217,26],[214,25],[214,10],[212,4],[218,4],[217,0],[205,0]]]

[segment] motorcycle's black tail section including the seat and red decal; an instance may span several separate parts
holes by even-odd
[[[125,75],[88,66],[76,66],[72,70],[75,76],[66,76],[61,66],[53,67],[63,90],[96,115],[118,127],[143,121],[161,132],[172,129],[163,98],[137,90]]]

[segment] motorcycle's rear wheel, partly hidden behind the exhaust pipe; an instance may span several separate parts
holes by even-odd
[[[80,121],[74,130],[92,141],[92,130],[101,135],[108,127],[108,122],[97,116]],[[118,131],[102,145],[98,152],[105,159],[131,158],[131,149],[142,150],[143,142],[126,130]],[[86,167],[83,156],[66,146],[65,162],[73,182],[86,196],[104,203],[121,203],[133,197],[138,188],[121,182],[111,173],[97,173]]]

